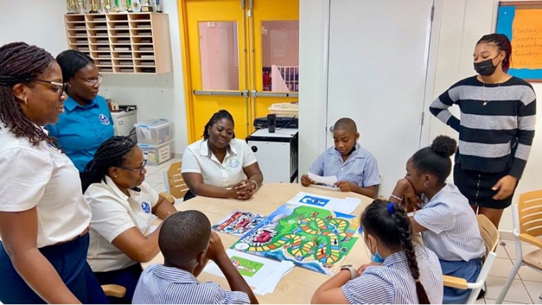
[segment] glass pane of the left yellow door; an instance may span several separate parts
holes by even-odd
[[[239,90],[237,22],[199,22],[203,90]]]

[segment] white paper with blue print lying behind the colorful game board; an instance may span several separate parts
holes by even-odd
[[[292,199],[288,200],[288,204],[302,204],[304,206],[316,206],[325,208],[329,211],[335,211],[343,214],[354,212],[361,200],[353,197],[339,199],[327,197],[324,195],[315,195],[308,192],[298,192]]]

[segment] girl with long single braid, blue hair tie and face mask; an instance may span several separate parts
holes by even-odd
[[[436,255],[413,240],[407,213],[377,199],[361,214],[370,264],[341,267],[318,288],[313,304],[441,304],[443,278]]]

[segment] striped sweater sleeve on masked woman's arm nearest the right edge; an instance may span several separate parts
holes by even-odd
[[[525,170],[536,125],[536,95],[530,85],[525,87],[525,92],[518,103],[518,133],[516,134],[518,145],[509,172],[517,179],[521,178],[523,170]]]

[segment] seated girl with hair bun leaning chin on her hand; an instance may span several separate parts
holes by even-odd
[[[430,147],[416,152],[407,161],[407,175],[397,181],[390,201],[408,208],[421,208],[410,218],[414,231],[438,256],[443,274],[476,281],[486,253],[475,213],[458,188],[447,183],[452,170],[450,156],[456,141],[439,135]],[[444,304],[464,304],[470,290],[444,288]]]

